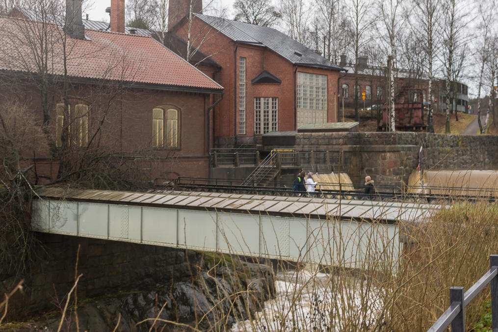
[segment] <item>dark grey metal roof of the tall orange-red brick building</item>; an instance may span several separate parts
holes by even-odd
[[[278,30],[204,14],[195,15],[230,39],[267,47],[295,65],[343,70]]]

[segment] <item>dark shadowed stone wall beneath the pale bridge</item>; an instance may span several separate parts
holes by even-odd
[[[187,292],[187,288],[193,283],[192,280],[196,280],[197,277],[203,278],[202,276],[206,273],[199,270],[199,267],[211,264],[214,260],[213,255],[215,255],[180,248],[68,235],[37,233],[37,237],[42,242],[42,248],[37,261],[32,263],[33,268],[29,274],[22,276],[24,291],[16,293],[9,301],[8,318],[10,319],[18,320],[33,313],[57,311],[55,303],[60,301],[62,305],[64,304],[64,296],[74,284],[78,245],[81,245],[77,271],[78,275],[82,274],[77,286],[79,301],[100,296],[117,297],[128,294],[130,291],[159,290],[157,292],[163,298],[169,297],[170,305],[165,309],[168,319],[175,320],[175,315],[182,312],[180,315],[182,319],[189,322],[194,319],[194,312],[197,310],[193,303],[195,299],[192,303],[188,303],[191,300],[189,297],[191,294],[183,293]],[[236,264],[235,259],[232,264],[238,269],[239,274],[240,269],[245,268],[250,272],[248,280],[241,280],[241,284],[247,282],[245,286],[249,287],[249,283],[260,283],[261,301],[267,300],[268,296],[274,292],[267,288],[273,287],[274,283],[270,267],[243,261]],[[8,293],[21,279],[21,277],[9,276],[5,271],[6,269],[0,269],[0,291],[2,293]],[[235,274],[231,271],[226,273]],[[198,292],[199,297],[204,294],[202,284],[210,285],[210,282],[212,283],[210,280],[214,279],[220,279],[220,283],[225,283],[229,287],[225,290],[228,293],[238,290],[230,281],[236,280],[234,276],[215,275],[214,279],[212,276],[205,278],[209,280],[197,282],[197,288],[192,286],[193,290],[190,293]],[[230,280],[223,281],[225,278]],[[219,285],[217,287],[219,288]],[[218,288],[207,290],[214,292],[212,298],[216,299]],[[175,298],[171,295],[175,293],[183,295]],[[143,306],[153,306],[153,302],[152,299],[150,304]],[[171,305],[173,302],[178,303],[176,309]],[[257,302],[257,299],[254,302]],[[257,305],[252,309],[256,310]]]

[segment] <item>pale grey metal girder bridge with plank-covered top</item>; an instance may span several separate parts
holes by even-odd
[[[435,204],[209,192],[38,188],[39,232],[361,267],[371,247],[395,257],[400,225]]]

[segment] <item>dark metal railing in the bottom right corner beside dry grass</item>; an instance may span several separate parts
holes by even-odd
[[[464,332],[465,307],[484,287],[491,283],[491,315],[493,332],[498,331],[498,255],[490,255],[490,270],[467,292],[463,287],[450,288],[450,307],[431,326],[428,332],[443,332],[451,325],[452,332]]]

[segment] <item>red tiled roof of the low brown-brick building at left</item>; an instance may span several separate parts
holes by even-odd
[[[0,70],[37,73],[39,22],[0,17]],[[49,36],[57,39],[49,56],[49,74],[63,75],[63,43],[59,30],[46,24]],[[148,36],[85,30],[88,40],[67,36],[68,76],[138,82],[159,86],[208,90],[223,88],[194,66]],[[34,37],[34,38],[33,38]],[[34,41],[33,41],[34,40]]]

